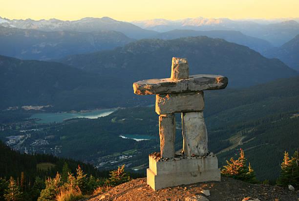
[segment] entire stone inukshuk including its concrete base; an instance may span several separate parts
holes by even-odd
[[[203,90],[224,89],[228,79],[220,75],[189,76],[188,60],[172,58],[171,78],[141,80],[134,93],[156,95],[161,156],[149,155],[147,182],[154,189],[200,181],[220,181],[218,161],[208,151],[203,117]],[[175,113],[181,113],[183,155],[175,154]]]

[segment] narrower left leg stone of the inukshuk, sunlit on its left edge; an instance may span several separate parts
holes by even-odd
[[[167,114],[159,116],[159,134],[161,157],[174,157],[174,139],[175,139],[175,115]]]

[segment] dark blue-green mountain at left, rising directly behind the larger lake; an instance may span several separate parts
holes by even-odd
[[[53,105],[53,111],[134,105],[139,97],[125,93],[124,82],[62,63],[0,56],[0,110],[23,105]]]

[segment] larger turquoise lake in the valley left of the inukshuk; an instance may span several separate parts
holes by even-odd
[[[63,122],[64,120],[73,118],[97,119],[98,117],[105,117],[114,111],[114,109],[107,109],[77,113],[37,113],[32,115],[30,119],[40,119],[36,121],[37,123]]]

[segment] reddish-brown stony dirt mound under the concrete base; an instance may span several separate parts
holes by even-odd
[[[250,184],[231,178],[221,177],[221,181],[200,182],[180,185],[154,191],[141,178],[111,188],[105,193],[85,199],[85,201],[185,201],[185,198],[203,195],[200,191],[210,190],[210,201],[299,201],[299,191],[286,187]]]

